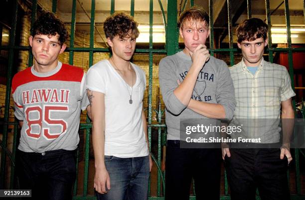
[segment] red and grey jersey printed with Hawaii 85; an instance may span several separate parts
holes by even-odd
[[[76,149],[80,112],[89,104],[85,87],[84,71],[61,62],[48,73],[33,67],[18,72],[12,80],[14,114],[23,121],[18,149]]]

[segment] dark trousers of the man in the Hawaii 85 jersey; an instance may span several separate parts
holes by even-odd
[[[72,199],[71,190],[76,179],[75,151],[60,149],[43,154],[17,150],[19,189],[32,190],[35,200]]]

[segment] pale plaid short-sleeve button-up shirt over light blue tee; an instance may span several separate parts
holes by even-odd
[[[252,123],[251,129],[248,129],[252,131],[247,131],[246,134],[253,137],[263,136],[263,143],[278,142],[281,129],[277,121],[280,119],[281,101],[296,95],[286,67],[262,59],[254,75],[247,69],[243,60],[229,69],[237,103],[232,123],[240,124],[241,121],[246,122],[246,119],[251,118],[273,124],[273,128],[261,128],[260,123],[259,126]]]

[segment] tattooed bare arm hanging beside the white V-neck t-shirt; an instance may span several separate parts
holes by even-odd
[[[94,150],[94,188],[98,193],[105,194],[110,190],[110,178],[104,162],[105,152],[105,95],[87,90],[91,105],[92,145]],[[88,106],[89,107],[89,106]]]

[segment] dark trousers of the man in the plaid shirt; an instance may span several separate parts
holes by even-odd
[[[290,200],[288,159],[280,159],[278,149],[230,149],[225,167],[231,200],[255,200],[258,189],[262,200]]]

